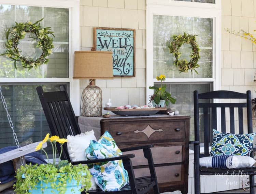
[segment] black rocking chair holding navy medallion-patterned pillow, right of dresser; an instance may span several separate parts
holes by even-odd
[[[200,103],[199,99],[246,99],[246,102],[240,103]],[[247,91],[246,94],[231,92],[231,91],[213,91],[198,94],[198,91],[194,91],[194,115],[195,115],[195,141],[190,142],[194,144],[194,170],[195,170],[195,194],[200,194],[200,175],[241,175],[241,171],[244,174],[250,175],[250,194],[255,192],[254,175],[256,175],[256,167],[247,168],[211,168],[203,167],[199,165],[199,158],[210,156],[209,154],[209,142],[210,133],[213,129],[221,132],[226,132],[226,108],[229,108],[230,114],[230,133],[234,134],[235,122],[234,122],[234,108],[238,108],[238,121],[239,121],[239,133],[245,133],[243,129],[243,108],[247,108],[247,128],[248,132],[252,133],[252,97],[251,91]],[[199,137],[199,108],[203,110],[203,131],[204,131],[204,153],[200,153],[200,137]],[[217,129],[217,108],[220,108],[221,113],[221,130]],[[212,114],[212,128],[210,129],[210,111]],[[251,153],[253,157],[253,151]],[[240,173],[240,174],[239,174]]]

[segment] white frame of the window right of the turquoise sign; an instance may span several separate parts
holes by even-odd
[[[146,6],[146,101],[153,90],[148,87],[158,83],[153,78],[153,29],[154,15],[203,17],[213,19],[213,78],[167,78],[167,83],[212,82],[213,90],[221,89],[221,0],[213,3],[198,3],[173,0],[147,0]]]

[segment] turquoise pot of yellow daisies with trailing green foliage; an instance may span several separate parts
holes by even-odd
[[[87,166],[82,166],[81,164],[73,166],[66,160],[59,160],[58,164],[56,164],[56,144],[58,143],[61,146],[60,158],[63,144],[67,141],[66,139],[60,139],[56,135],[49,137],[49,134],[47,134],[35,148],[35,151],[42,150],[46,155],[48,164],[33,166],[26,164],[21,166],[16,172],[15,192],[19,194],[80,194],[82,191],[87,192],[91,187],[91,175]],[[52,145],[53,163],[49,162],[48,155],[43,149],[45,142]],[[83,185],[83,188],[81,188],[81,185]]]

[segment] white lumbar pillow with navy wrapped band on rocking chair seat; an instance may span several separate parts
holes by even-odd
[[[209,156],[200,158],[200,166],[226,168],[246,168],[255,164],[255,160],[249,156]]]

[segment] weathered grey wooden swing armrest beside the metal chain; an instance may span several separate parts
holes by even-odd
[[[35,151],[35,147],[37,147],[37,145],[40,142],[35,142],[17,149],[14,149],[12,151],[8,151],[5,153],[0,154],[0,164],[4,163],[4,162],[8,162],[10,160],[13,160],[15,158],[19,158],[22,156],[25,156],[29,153],[32,153]],[[46,143],[43,144],[43,148],[45,148],[47,146]]]

